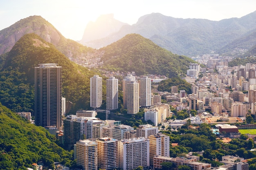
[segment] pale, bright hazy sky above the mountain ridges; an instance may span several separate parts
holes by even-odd
[[[0,30],[40,15],[65,38],[81,40],[89,21],[102,14],[135,24],[139,17],[162,13],[174,18],[222,20],[256,11],[256,0],[0,0]]]

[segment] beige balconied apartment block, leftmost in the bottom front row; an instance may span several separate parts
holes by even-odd
[[[74,144],[74,159],[76,165],[83,170],[98,170],[97,142],[90,140],[77,141]]]

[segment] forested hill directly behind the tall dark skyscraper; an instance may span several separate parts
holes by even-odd
[[[34,110],[34,67],[56,63],[63,67],[63,97],[67,112],[90,107],[90,77],[95,72],[71,62],[38,35],[26,34],[8,53],[0,70],[0,102],[13,111]]]

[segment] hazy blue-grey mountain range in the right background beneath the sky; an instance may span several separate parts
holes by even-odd
[[[250,49],[255,45],[254,31],[256,11],[242,18],[220,21],[173,18],[151,13],[139,18],[136,24],[122,26],[119,31],[85,45],[99,48],[127,34],[137,33],[173,53],[191,56],[211,51],[227,53],[236,48]]]

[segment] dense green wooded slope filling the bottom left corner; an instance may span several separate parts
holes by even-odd
[[[54,161],[72,166],[72,152],[63,150],[43,127],[29,122],[0,103],[0,169],[26,170],[43,161],[54,168]]]

